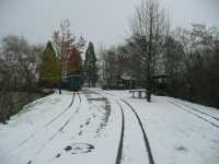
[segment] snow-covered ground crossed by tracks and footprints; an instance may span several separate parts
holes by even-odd
[[[0,125],[0,164],[219,164],[219,110],[84,89],[37,99]]]

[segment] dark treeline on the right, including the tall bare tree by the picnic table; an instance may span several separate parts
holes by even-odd
[[[192,24],[192,30],[170,31],[159,3],[143,0],[131,32],[123,45],[101,51],[104,83],[125,73],[147,89],[149,102],[157,92],[219,107],[218,27]]]

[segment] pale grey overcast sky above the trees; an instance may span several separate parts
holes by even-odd
[[[0,0],[0,37],[15,34],[31,43],[46,43],[61,20],[87,40],[106,46],[123,42],[129,20],[141,0]],[[192,22],[219,26],[219,0],[159,0],[171,15],[172,27]]]

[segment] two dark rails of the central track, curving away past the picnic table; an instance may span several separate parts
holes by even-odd
[[[150,164],[154,164],[154,160],[153,160],[153,156],[152,156],[152,151],[151,151],[151,148],[150,148],[150,143],[149,143],[149,140],[148,140],[148,137],[147,137],[147,133],[146,133],[146,130],[143,128],[143,125],[140,120],[140,117],[138,116],[136,109],[128,103],[126,102],[125,99],[114,95],[114,94],[111,94],[111,93],[107,93],[107,92],[103,92],[105,94],[108,94],[111,96],[114,96],[114,97],[117,97],[119,101],[122,101],[124,104],[126,104],[131,113],[135,114],[135,117],[137,118],[138,120],[138,124],[140,126],[140,129],[141,129],[141,132],[142,132],[142,136],[143,136],[143,141],[145,141],[145,147],[146,147],[146,150],[147,150],[147,155],[148,155],[148,159],[149,159],[149,163]],[[116,157],[116,164],[120,164],[120,160],[122,160],[122,154],[123,154],[123,140],[124,140],[124,109],[123,109],[123,106],[120,105],[120,103],[116,99],[116,103],[119,105],[120,107],[120,110],[122,110],[122,136],[120,136],[120,141],[119,141],[119,147],[118,147],[118,152],[117,152],[117,157]]]

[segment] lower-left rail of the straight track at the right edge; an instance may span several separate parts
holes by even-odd
[[[216,125],[215,122],[212,122],[212,121],[206,119],[205,117],[203,117],[203,116],[200,116],[200,115],[197,115],[197,114],[191,112],[191,110],[188,109],[188,107],[183,107],[182,105],[178,105],[177,103],[172,102],[172,101],[169,101],[169,99],[166,99],[166,101],[168,101],[170,104],[176,106],[177,108],[180,108],[180,109],[182,109],[182,110],[184,110],[184,112],[186,112],[186,113],[188,113],[188,114],[191,114],[191,115],[194,115],[195,117],[197,117],[197,118],[199,118],[199,119],[201,119],[201,120],[204,120],[204,121],[210,124],[210,125],[214,126],[215,128],[219,129],[219,125]]]

